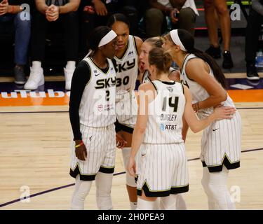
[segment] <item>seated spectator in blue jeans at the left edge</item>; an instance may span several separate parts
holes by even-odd
[[[27,7],[22,6],[27,3]],[[20,5],[21,4],[21,5]],[[24,10],[24,11],[23,11]],[[29,0],[4,0],[0,3],[0,23],[13,22],[15,29],[15,67],[16,84],[25,84],[25,64],[30,39],[31,20]]]

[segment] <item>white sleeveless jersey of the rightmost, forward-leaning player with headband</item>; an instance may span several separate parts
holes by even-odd
[[[194,55],[194,54],[189,54],[185,57],[183,65],[182,65],[182,71],[180,73],[180,78],[182,80],[182,83],[184,83],[184,85],[187,85],[187,87],[189,87],[193,104],[195,104],[196,102],[203,101],[203,100],[207,99],[208,97],[210,97],[208,92],[201,85],[199,85],[194,80],[191,80],[190,78],[187,77],[187,73],[185,71],[185,66],[187,65],[187,62],[189,61],[189,59],[192,59],[195,57],[196,57],[196,55]],[[213,78],[215,78],[212,69],[210,69],[209,74],[210,74],[210,76],[213,76]],[[222,102],[222,104],[224,104],[224,106],[234,106],[234,102],[229,97],[229,94],[227,94],[227,100]],[[211,113],[213,113],[213,107],[210,107],[208,109],[199,110],[199,111],[197,111],[196,114],[197,114],[198,118],[202,119],[202,118],[209,116]]]

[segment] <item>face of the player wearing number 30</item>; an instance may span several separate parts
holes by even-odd
[[[117,51],[124,50],[128,44],[130,30],[125,22],[116,21],[112,25],[112,30],[117,34]]]

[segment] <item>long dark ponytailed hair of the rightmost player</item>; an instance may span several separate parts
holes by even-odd
[[[215,79],[222,85],[222,87],[224,87],[224,89],[226,89],[224,73],[220,69],[220,66],[217,64],[217,62],[215,62],[213,57],[205,52],[202,52],[201,50],[194,48],[194,37],[189,33],[189,31],[177,29],[177,34],[187,53],[194,54],[196,57],[199,57],[207,62],[214,73]]]

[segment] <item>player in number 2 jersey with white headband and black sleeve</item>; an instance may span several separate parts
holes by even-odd
[[[70,175],[76,179],[71,208],[84,209],[95,180],[98,209],[112,209],[116,71],[111,59],[116,33],[109,27],[97,27],[88,41],[92,51],[74,71],[69,102],[74,134]]]

